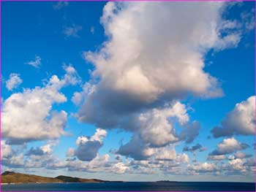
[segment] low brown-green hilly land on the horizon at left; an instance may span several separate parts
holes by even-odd
[[[23,174],[18,172],[3,172],[1,183],[106,183],[108,180],[83,179],[79,177],[42,177],[34,174]]]

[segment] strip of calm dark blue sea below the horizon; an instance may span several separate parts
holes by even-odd
[[[2,185],[1,191],[255,191],[255,183],[30,183]]]

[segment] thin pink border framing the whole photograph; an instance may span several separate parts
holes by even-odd
[[[0,0],[0,141],[1,141],[1,2],[2,1],[60,1],[60,0]],[[72,1],[72,0],[63,0],[63,1]],[[108,1],[108,0],[73,0],[73,1]],[[111,1],[124,1],[124,0],[111,0]],[[241,0],[125,0],[125,1],[241,1]],[[256,0],[243,0],[243,1],[256,1]],[[255,2],[255,11],[256,11],[256,2]],[[255,15],[255,23],[256,23],[256,15]],[[256,30],[255,30],[255,46],[256,46]],[[255,47],[255,62],[256,62],[256,47]],[[255,64],[255,74],[256,74],[256,64]],[[255,95],[256,95],[256,76],[255,76]],[[256,106],[256,99],[255,99],[255,106]],[[255,118],[256,118],[256,109],[255,109]],[[255,148],[256,148],[256,126],[255,126]],[[0,147],[0,156],[1,156],[1,147]],[[256,164],[256,154],[255,154],[255,164]],[[256,173],[256,169],[255,169]],[[256,174],[255,174],[256,175]],[[256,176],[255,176],[255,183],[256,183]],[[256,185],[255,185],[256,191]],[[0,159],[0,192],[1,192],[1,159]],[[13,191],[15,192],[15,191]],[[20,192],[20,191],[18,191]],[[31,192],[31,191],[26,191]],[[46,191],[45,191],[46,192]],[[64,191],[56,191],[56,192],[64,192]],[[76,192],[76,191],[74,191]],[[80,192],[80,191],[79,191]],[[95,192],[95,191],[86,191],[86,192]],[[101,192],[101,191],[99,191]],[[103,191],[102,191],[103,192]],[[105,191],[104,191],[105,192]],[[123,191],[119,191],[123,192]],[[139,191],[130,191],[130,192],[139,192]],[[151,192],[151,191],[147,191]],[[166,191],[159,191],[159,192],[166,192]],[[176,192],[176,191],[173,191]],[[177,191],[177,192],[187,192],[187,191]],[[195,191],[195,192],[206,192],[206,191]],[[219,191],[219,192],[226,192],[226,191]],[[241,192],[241,191],[240,191]]]

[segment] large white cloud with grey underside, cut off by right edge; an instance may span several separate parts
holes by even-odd
[[[214,137],[255,134],[255,96],[250,96],[246,101],[236,104],[221,124],[222,126],[216,126],[211,130]]]

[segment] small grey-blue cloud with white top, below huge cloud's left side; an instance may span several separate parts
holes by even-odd
[[[103,145],[103,139],[107,136],[107,131],[97,128],[96,133],[91,137],[78,137],[76,150],[69,148],[67,155],[77,156],[80,161],[91,161],[97,157],[99,148]]]

